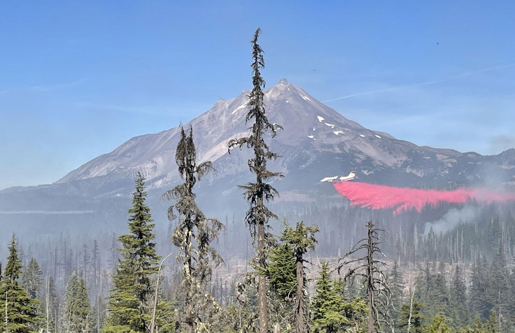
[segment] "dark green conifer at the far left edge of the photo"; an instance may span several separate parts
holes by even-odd
[[[27,294],[27,291],[19,285],[22,272],[21,260],[18,257],[18,244],[13,234],[9,244],[9,256],[4,270],[3,280],[0,284],[0,299],[2,299],[3,325],[5,333],[32,333],[36,323],[36,305]]]

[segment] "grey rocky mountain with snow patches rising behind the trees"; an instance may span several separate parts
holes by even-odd
[[[234,202],[246,205],[237,185],[252,179],[246,163],[249,152],[236,149],[228,154],[227,143],[248,134],[247,94],[220,99],[185,124],[193,127],[199,159],[213,161],[216,168],[198,189],[199,200],[210,202],[213,209],[227,211]],[[441,189],[515,181],[515,149],[483,156],[417,146],[364,128],[285,79],[265,92],[265,105],[270,121],[284,127],[270,143],[282,155],[270,169],[286,176],[274,181],[281,191],[279,203],[335,198],[332,186],[319,180],[350,170],[356,170],[363,182]],[[147,178],[150,197],[157,204],[159,195],[179,182],[178,140],[178,128],[133,137],[54,184],[0,191],[0,211],[112,211],[116,202],[125,207],[138,171]]]

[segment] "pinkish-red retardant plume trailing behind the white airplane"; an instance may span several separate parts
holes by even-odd
[[[438,202],[465,203],[469,199],[486,203],[515,200],[515,193],[479,188],[437,191],[359,182],[334,182],[333,185],[339,194],[351,201],[352,205],[372,209],[395,208],[393,214],[412,208],[420,212],[426,203],[434,206]]]

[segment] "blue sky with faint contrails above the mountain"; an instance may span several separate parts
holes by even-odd
[[[58,180],[130,137],[287,78],[418,145],[515,147],[512,1],[55,1],[0,11],[0,189]],[[314,71],[315,69],[315,71]]]

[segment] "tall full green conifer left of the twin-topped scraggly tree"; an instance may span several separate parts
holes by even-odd
[[[113,275],[104,332],[146,332],[151,319],[153,275],[157,273],[160,256],[156,254],[150,208],[145,204],[145,179],[138,172],[132,194],[128,220],[129,234],[118,237],[122,258]]]

